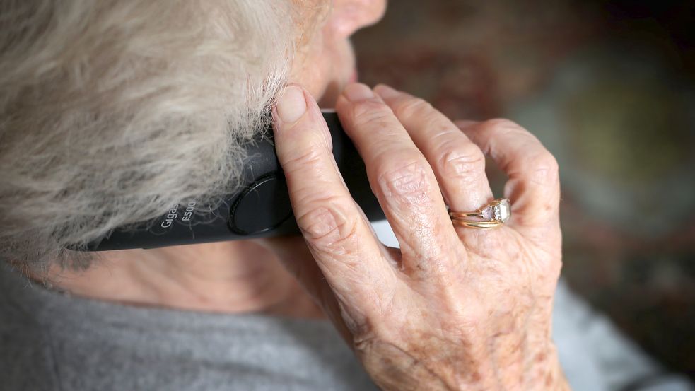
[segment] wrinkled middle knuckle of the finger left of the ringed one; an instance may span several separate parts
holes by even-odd
[[[430,184],[427,168],[421,161],[409,161],[382,170],[378,183],[387,199],[399,203],[426,205],[431,200],[428,197]]]

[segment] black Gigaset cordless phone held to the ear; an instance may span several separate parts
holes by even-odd
[[[333,155],[350,194],[369,221],[385,218],[367,180],[366,170],[352,141],[345,134],[338,115],[322,111],[333,139]],[[275,153],[273,132],[264,129],[247,144],[250,163],[243,168],[245,185],[224,197],[218,209],[199,211],[195,202],[175,204],[152,221],[117,228],[86,250],[122,250],[171,245],[244,240],[298,234],[287,184]],[[265,137],[263,135],[265,134]]]

